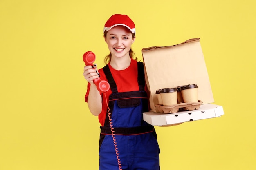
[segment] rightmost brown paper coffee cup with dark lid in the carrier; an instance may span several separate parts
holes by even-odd
[[[189,84],[180,88],[182,98],[185,103],[198,102],[198,86],[196,84]]]

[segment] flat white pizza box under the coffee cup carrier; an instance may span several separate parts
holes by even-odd
[[[195,120],[209,119],[224,115],[223,107],[215,104],[201,105],[198,110],[178,113],[143,113],[144,121],[153,126],[171,125]]]

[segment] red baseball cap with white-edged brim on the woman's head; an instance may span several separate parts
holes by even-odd
[[[132,33],[135,34],[134,22],[127,15],[122,14],[112,15],[104,25],[103,33],[118,25],[126,26]]]

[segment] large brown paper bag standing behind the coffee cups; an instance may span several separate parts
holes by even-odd
[[[198,85],[198,99],[203,104],[214,102],[200,38],[173,46],[143,48],[142,55],[151,111],[158,112],[157,89],[188,84]]]

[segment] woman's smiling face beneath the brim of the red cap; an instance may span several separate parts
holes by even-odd
[[[134,40],[135,37],[132,37],[132,33],[125,26],[115,26],[108,31],[105,37],[112,59],[130,57],[129,51]]]

